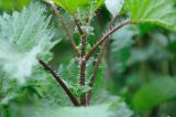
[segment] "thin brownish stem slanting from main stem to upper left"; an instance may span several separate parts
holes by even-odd
[[[70,40],[70,43],[72,43],[72,45],[73,45],[73,49],[75,50],[77,56],[79,57],[80,54],[79,54],[79,52],[78,52],[78,50],[77,50],[77,44],[76,44],[74,38],[72,36],[72,33],[70,33],[70,31],[69,31],[69,28],[65,24],[63,18],[59,15],[59,11],[58,11],[56,4],[55,4],[54,2],[50,2],[50,4],[52,6],[52,8],[53,8],[55,14],[58,17],[59,23],[62,23],[62,26],[64,28],[64,30],[65,30],[67,36],[68,36],[69,40]]]

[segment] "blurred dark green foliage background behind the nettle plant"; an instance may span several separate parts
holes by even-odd
[[[29,2],[30,0],[0,0],[0,12],[11,13]],[[52,13],[50,7],[48,11]],[[90,38],[90,44],[106,31],[109,21],[110,14],[102,7],[92,21],[96,35]],[[58,68],[59,64],[68,64],[75,54],[59,25],[56,33],[63,41],[52,50],[54,59],[51,64]],[[76,35],[75,39],[79,40]],[[107,89],[121,96],[134,111],[134,117],[176,117],[176,33],[151,24],[125,26],[111,36],[103,63]],[[29,86],[20,98],[16,97],[7,105],[6,117],[20,117],[12,110],[23,104],[34,103],[33,100],[37,104],[36,97],[42,96],[35,95],[40,94],[35,93],[40,91],[36,88],[42,91],[44,87]],[[57,88],[51,89],[50,94],[56,91]]]

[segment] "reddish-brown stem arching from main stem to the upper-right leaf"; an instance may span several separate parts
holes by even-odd
[[[96,49],[102,43],[105,42],[112,33],[114,33],[117,30],[121,29],[122,26],[127,25],[127,24],[132,24],[133,22],[131,21],[124,21],[118,25],[116,25],[114,28],[112,28],[112,30],[109,30],[90,50],[90,52],[86,55],[86,60],[89,60],[89,57],[92,55],[92,53],[96,51]]]

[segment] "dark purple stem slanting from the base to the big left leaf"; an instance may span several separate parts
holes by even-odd
[[[63,82],[63,79],[57,75],[57,73],[55,73],[44,61],[38,60],[40,64],[46,70],[48,71],[52,76],[57,81],[57,83],[63,87],[63,89],[65,91],[65,93],[68,95],[68,97],[70,98],[70,100],[73,102],[73,104],[75,106],[80,106],[77,98],[73,95],[73,93],[70,92],[70,89],[67,87],[67,85]]]

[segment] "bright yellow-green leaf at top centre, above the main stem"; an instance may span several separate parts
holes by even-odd
[[[53,0],[55,3],[64,8],[69,13],[75,13],[77,10],[97,10],[102,3],[103,0]]]

